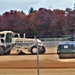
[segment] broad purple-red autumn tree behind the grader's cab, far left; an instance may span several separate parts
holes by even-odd
[[[26,28],[25,15],[21,12],[11,10],[2,15],[2,30],[23,32]]]

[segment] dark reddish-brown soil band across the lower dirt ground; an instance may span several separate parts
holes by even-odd
[[[75,62],[40,61],[40,69],[75,68]],[[36,60],[0,62],[0,69],[37,69]]]

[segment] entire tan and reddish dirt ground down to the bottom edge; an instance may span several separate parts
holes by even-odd
[[[39,55],[40,75],[75,75],[75,58],[59,59],[56,48]],[[0,56],[0,75],[37,75],[37,56],[26,53]]]

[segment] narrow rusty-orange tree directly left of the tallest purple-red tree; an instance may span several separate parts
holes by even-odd
[[[34,37],[36,35],[35,31],[35,13],[31,13],[26,17],[26,36]]]

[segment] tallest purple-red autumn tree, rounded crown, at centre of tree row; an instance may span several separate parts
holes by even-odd
[[[52,21],[53,12],[45,8],[40,8],[35,13],[35,30],[37,35],[49,35],[50,25]]]

